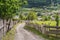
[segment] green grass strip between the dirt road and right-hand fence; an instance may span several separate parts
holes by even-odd
[[[33,32],[33,33],[35,33],[36,35],[39,35],[39,36],[42,36],[43,38],[45,38],[45,40],[47,39],[47,40],[60,40],[60,39],[56,39],[56,38],[49,38],[47,35],[45,35],[45,34],[42,34],[41,32],[39,32],[38,30],[36,30],[35,28],[33,28],[33,27],[29,27],[29,26],[25,26],[24,27],[26,30],[28,30],[28,31],[31,31],[31,32]]]

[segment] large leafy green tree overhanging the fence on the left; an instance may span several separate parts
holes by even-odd
[[[9,30],[11,19],[16,14],[16,12],[20,9],[22,4],[23,4],[22,0],[0,0],[0,18],[3,19],[3,21],[5,19],[7,21],[10,20],[8,24],[8,30]]]

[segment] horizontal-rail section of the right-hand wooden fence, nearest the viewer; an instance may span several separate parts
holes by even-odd
[[[46,29],[45,34],[48,36],[60,38],[60,27],[57,26],[44,26]]]

